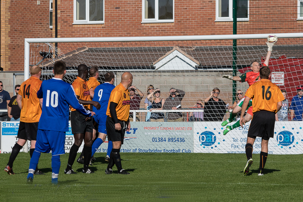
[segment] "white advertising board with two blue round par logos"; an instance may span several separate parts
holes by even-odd
[[[245,153],[250,122],[223,135],[221,122],[194,123],[195,153]],[[296,126],[295,126],[296,124]],[[274,138],[268,142],[268,154],[303,154],[303,121],[277,121]],[[299,127],[298,127],[299,126]],[[257,137],[253,154],[261,152],[261,137]]]

